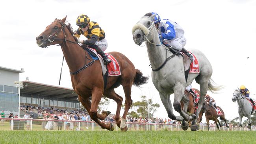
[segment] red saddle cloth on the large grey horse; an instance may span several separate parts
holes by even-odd
[[[191,54],[191,52],[189,52],[189,53]],[[198,63],[197,57],[194,54],[192,54],[192,56],[194,58],[192,63],[191,63],[191,60],[189,59],[189,57],[187,57],[186,54],[184,54],[183,52],[180,52],[180,54],[182,54],[183,57],[184,57],[184,69],[185,69],[185,71],[190,68],[189,73],[191,73],[191,74],[196,74],[196,73],[200,72],[199,63]]]

